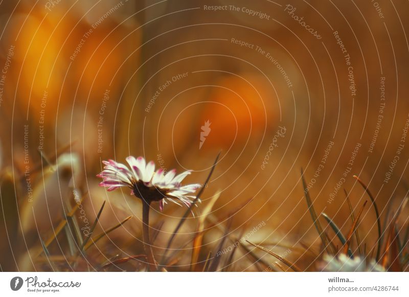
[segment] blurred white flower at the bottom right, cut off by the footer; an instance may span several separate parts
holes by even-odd
[[[366,261],[365,258],[359,256],[353,259],[345,254],[339,256],[324,255],[323,262],[320,263],[320,269],[328,272],[343,271],[343,272],[372,272],[385,271],[378,265],[375,260]]]

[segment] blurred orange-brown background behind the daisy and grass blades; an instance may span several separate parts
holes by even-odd
[[[380,15],[371,2],[293,1],[293,15],[303,17],[321,39],[305,30],[289,14],[287,3],[280,1],[52,3],[0,4],[0,68],[7,65],[0,105],[0,169],[4,176],[6,171],[12,176],[20,215],[25,207],[30,210],[27,216],[32,215],[24,178],[27,165],[38,205],[43,205],[38,208],[49,205],[55,215],[48,217],[49,212],[39,210],[38,220],[46,221],[43,227],[40,221],[37,227],[27,223],[24,231],[18,227],[27,237],[23,252],[30,244],[38,245],[38,235],[50,235],[66,204],[74,205],[69,190],[74,187],[90,197],[84,200],[89,220],[103,200],[109,202],[101,227],[133,215],[132,223],[101,243],[101,249],[109,246],[109,252],[100,253],[114,253],[116,243],[126,253],[137,253],[142,243],[132,242],[141,236],[141,205],[129,202],[126,191],[107,193],[95,177],[101,160],[124,163],[128,155],[145,156],[167,170],[192,169],[187,182],[203,183],[221,151],[202,205],[220,190],[212,215],[225,219],[255,197],[232,219],[237,237],[265,222],[252,237],[255,242],[301,242],[319,249],[304,200],[301,168],[312,186],[315,209],[335,221],[349,219],[344,188],[356,212],[367,199],[354,174],[376,196],[382,218],[387,217],[387,205],[396,209],[405,198],[407,145],[391,179],[384,180],[409,118],[407,3],[379,2]],[[247,7],[268,19],[242,10]],[[335,35],[342,40],[350,65]],[[380,89],[383,78],[384,90]],[[200,147],[206,121],[211,123],[210,132]],[[277,136],[283,127],[285,133]],[[277,146],[270,150],[272,143]],[[326,153],[329,143],[333,145]],[[62,152],[77,158],[61,165],[71,173],[66,180],[59,175],[47,184],[51,177],[44,173],[46,161],[54,164]],[[318,175],[317,168],[321,168]],[[334,190],[339,182],[339,190]],[[48,193],[46,202],[38,198],[39,189]],[[167,205],[161,214],[154,207],[152,224],[165,221],[155,242],[161,254],[184,210]],[[368,234],[368,246],[376,241],[375,220],[375,214],[367,211],[360,226],[361,233]],[[195,227],[195,219],[188,219],[180,242]],[[350,224],[339,227],[348,233]],[[6,229],[2,227],[2,233]],[[222,236],[210,230],[203,244],[211,250]],[[190,250],[186,253],[190,255]],[[288,257],[306,270],[315,269],[308,253]],[[180,260],[181,270],[188,260]],[[26,260],[2,261],[5,270],[19,265],[33,269],[32,264],[18,264]],[[243,260],[235,269],[255,268]]]

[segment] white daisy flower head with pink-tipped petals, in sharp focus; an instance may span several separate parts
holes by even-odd
[[[129,168],[111,159],[102,161],[105,167],[97,175],[103,179],[99,185],[108,188],[108,191],[128,187],[131,189],[132,195],[143,199],[148,204],[152,201],[159,201],[161,211],[163,211],[167,201],[172,201],[178,205],[183,203],[190,207],[196,198],[193,193],[201,187],[200,184],[181,185],[181,181],[191,174],[190,170],[178,175],[176,175],[175,169],[167,173],[162,168],[155,171],[155,163],[151,161],[146,164],[143,157],[129,156],[126,158],[126,162]],[[198,201],[200,202],[200,199]]]

